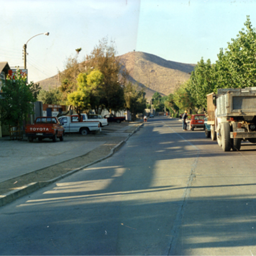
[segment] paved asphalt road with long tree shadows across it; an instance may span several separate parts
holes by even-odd
[[[149,119],[113,157],[0,208],[0,255],[255,255],[255,154]]]

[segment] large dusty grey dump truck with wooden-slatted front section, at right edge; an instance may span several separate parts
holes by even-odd
[[[218,89],[207,95],[207,124],[224,151],[238,151],[241,141],[256,143],[256,87]]]

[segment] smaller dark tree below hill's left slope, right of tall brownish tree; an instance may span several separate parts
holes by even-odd
[[[144,90],[138,90],[138,87],[128,82],[125,86],[125,105],[131,112],[132,121],[136,120],[137,113],[145,111],[146,102]]]

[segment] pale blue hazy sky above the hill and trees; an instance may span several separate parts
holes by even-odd
[[[256,0],[0,0],[0,61],[23,67],[27,44],[29,81],[64,69],[82,48],[79,60],[99,40],[115,41],[119,55],[148,52],[166,60],[213,62],[220,48],[244,27],[256,27]]]

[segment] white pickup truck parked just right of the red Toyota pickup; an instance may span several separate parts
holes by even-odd
[[[87,135],[89,132],[99,132],[101,130],[99,121],[79,122],[78,115],[61,116],[59,121],[65,129],[65,133],[79,132],[82,135]]]

